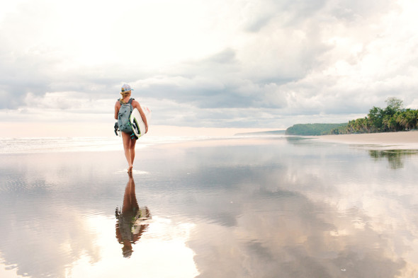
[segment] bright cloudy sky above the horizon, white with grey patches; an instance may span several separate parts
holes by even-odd
[[[123,83],[152,109],[155,134],[348,122],[389,97],[416,109],[417,10],[414,0],[0,0],[0,137],[111,135]]]

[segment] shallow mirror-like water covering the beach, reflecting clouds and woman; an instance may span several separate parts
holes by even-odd
[[[1,154],[0,277],[418,277],[417,151],[245,140]]]

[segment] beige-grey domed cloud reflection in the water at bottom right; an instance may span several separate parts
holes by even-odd
[[[217,224],[196,228],[190,245],[197,253],[199,277],[343,277],[342,270],[344,277],[396,277],[405,267],[363,212],[341,216],[332,206],[302,195],[253,206],[234,229]],[[363,228],[355,222],[363,222]]]

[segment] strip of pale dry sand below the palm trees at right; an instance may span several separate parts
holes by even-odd
[[[418,132],[338,134],[310,137],[317,141],[375,146],[379,149],[418,149]]]

